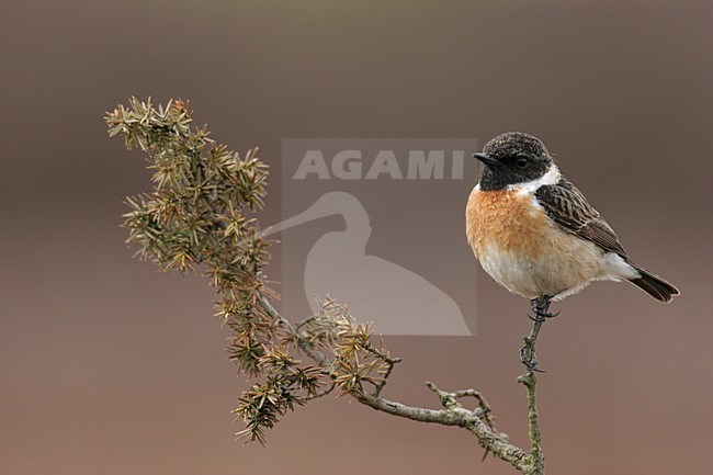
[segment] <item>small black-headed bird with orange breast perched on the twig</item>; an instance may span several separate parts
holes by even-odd
[[[473,155],[483,162],[466,205],[466,237],[483,269],[511,293],[530,298],[533,330],[522,363],[540,371],[534,341],[553,301],[593,281],[627,281],[660,302],[679,295],[635,264],[614,230],[559,171],[539,138],[508,132]]]

